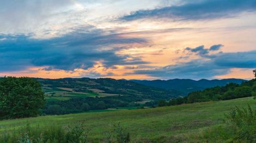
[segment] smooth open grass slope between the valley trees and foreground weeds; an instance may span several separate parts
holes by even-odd
[[[234,106],[256,108],[256,100],[242,98],[228,101],[194,103],[172,107],[125,110],[102,113],[81,113],[59,116],[41,116],[38,118],[0,121],[0,132],[5,129],[25,126],[27,122],[35,125],[68,125],[78,121],[90,128],[90,138],[103,138],[105,131],[111,130],[111,124],[121,122],[127,128],[132,139],[159,138],[162,136],[180,136],[202,131],[210,126],[221,124],[224,113]]]

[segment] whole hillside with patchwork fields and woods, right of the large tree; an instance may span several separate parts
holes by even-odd
[[[70,114],[108,108],[155,106],[181,93],[114,79],[36,79],[46,96],[44,114]],[[147,103],[147,105],[145,105]]]

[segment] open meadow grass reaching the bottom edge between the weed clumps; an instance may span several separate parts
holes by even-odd
[[[248,104],[256,108],[256,100],[241,98],[169,107],[3,120],[0,121],[0,133],[15,134],[27,124],[34,129],[43,129],[73,126],[82,122],[88,129],[88,139],[102,142],[106,138],[106,131],[112,131],[113,125],[120,123],[130,133],[131,142],[214,142],[215,134],[210,131],[223,125],[224,114],[235,106],[247,107]],[[216,139],[224,142],[220,137]]]

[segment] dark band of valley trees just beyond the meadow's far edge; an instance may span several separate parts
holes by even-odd
[[[138,96],[108,96],[104,98],[74,98],[66,101],[48,101],[43,110],[45,114],[60,115],[70,113],[81,113],[89,110],[117,108],[117,107],[133,107],[139,106],[134,101],[139,101]]]

